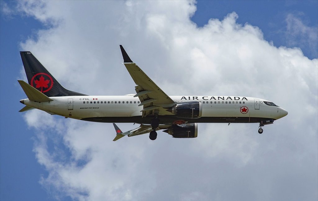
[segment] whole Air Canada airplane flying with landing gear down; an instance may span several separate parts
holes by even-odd
[[[89,96],[65,89],[29,51],[20,52],[28,83],[18,80],[28,98],[20,112],[43,110],[91,122],[113,123],[116,141],[124,136],[149,133],[156,140],[157,131],[174,138],[197,137],[198,123],[272,124],[288,114],[271,101],[242,96],[168,96],[128,56],[120,45],[124,62],[134,80],[135,94],[124,96]],[[136,129],[122,132],[115,123],[137,123]]]

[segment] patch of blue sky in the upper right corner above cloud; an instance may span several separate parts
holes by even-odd
[[[237,22],[258,26],[267,41],[273,41],[275,46],[300,47],[310,59],[317,58],[307,44],[302,44],[299,36],[294,42],[286,40],[286,16],[293,14],[309,27],[318,24],[318,1],[198,1],[197,12],[192,20],[198,26],[203,26],[210,18],[222,19],[228,13],[235,11],[239,15]],[[294,39],[294,38],[293,38]],[[316,46],[317,49],[317,46]]]

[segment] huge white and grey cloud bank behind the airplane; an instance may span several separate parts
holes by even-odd
[[[236,13],[198,28],[195,2],[19,2],[48,25],[21,44],[66,88],[134,93],[122,44],[167,94],[266,98],[289,114],[265,126],[199,124],[196,139],[160,132],[112,142],[111,124],[27,112],[41,184],[75,200],[300,200],[317,198],[318,60],[275,47]],[[53,26],[51,26],[53,25]],[[119,124],[122,130],[132,124]],[[51,147],[50,147],[51,146]],[[287,193],[288,192],[288,193]],[[305,197],[306,196],[306,197]]]

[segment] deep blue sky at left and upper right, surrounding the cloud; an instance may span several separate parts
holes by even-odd
[[[274,46],[300,47],[309,59],[317,58],[317,40],[313,44],[293,24],[288,28],[288,23],[301,22],[297,24],[298,28],[301,26],[305,31],[313,31],[317,37],[318,1],[198,1],[196,5],[197,11],[191,20],[199,27],[210,18],[222,20],[235,11],[239,16],[237,23],[259,27],[264,39],[273,41]],[[0,199],[56,200],[55,193],[59,190],[46,188],[39,183],[41,177],[48,176],[48,171],[39,164],[33,151],[34,143],[38,141],[35,134],[38,130],[30,128],[23,118],[24,114],[18,112],[23,107],[19,100],[25,95],[17,83],[22,66],[20,43],[28,38],[35,38],[36,41],[38,30],[51,26],[17,11],[15,6],[16,2],[1,1]],[[10,13],[5,12],[4,7],[10,8]],[[48,149],[54,152],[57,146],[67,153],[61,141],[59,139],[58,144],[49,141]],[[67,195],[61,198],[71,200]]]

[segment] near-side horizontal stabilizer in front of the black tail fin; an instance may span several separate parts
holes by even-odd
[[[48,102],[52,101],[53,99],[45,96],[45,94],[41,93],[41,91],[38,91],[33,86],[29,85],[28,83],[24,82],[23,80],[18,80],[19,84],[21,85],[24,93],[29,98],[30,101],[35,102]]]

